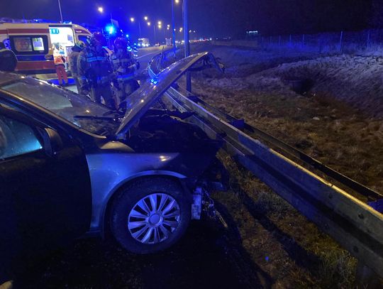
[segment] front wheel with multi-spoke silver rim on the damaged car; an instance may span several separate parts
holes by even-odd
[[[110,225],[114,238],[124,249],[146,254],[176,243],[190,219],[191,195],[181,185],[167,178],[143,178],[125,187],[113,200]]]

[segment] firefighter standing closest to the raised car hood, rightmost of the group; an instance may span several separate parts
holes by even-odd
[[[128,52],[128,42],[125,38],[116,38],[114,51],[111,55],[113,72],[116,80],[113,81],[118,102],[123,102],[128,95],[140,87],[134,79],[135,71],[140,69],[140,63]]]

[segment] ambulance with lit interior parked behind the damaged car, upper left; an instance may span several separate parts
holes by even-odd
[[[91,33],[77,24],[66,23],[0,23],[0,41],[16,54],[16,72],[42,79],[55,78],[52,45],[62,47],[68,59],[78,40],[87,43]]]

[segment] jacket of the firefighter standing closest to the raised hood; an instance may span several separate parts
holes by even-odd
[[[133,80],[137,65],[135,65],[135,60],[131,53],[113,53],[111,55],[111,62],[113,72],[119,82]]]

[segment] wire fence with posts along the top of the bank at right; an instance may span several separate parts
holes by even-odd
[[[383,48],[383,29],[337,33],[259,36],[257,46],[269,49],[312,50],[318,53],[357,53]],[[382,49],[383,51],[383,49]]]

